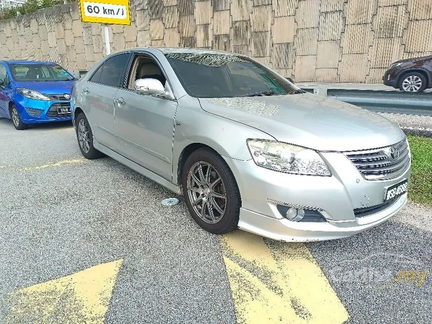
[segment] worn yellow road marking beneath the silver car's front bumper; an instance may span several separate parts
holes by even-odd
[[[269,240],[266,245],[243,231],[221,243],[239,324],[337,324],[349,318],[304,244]]]

